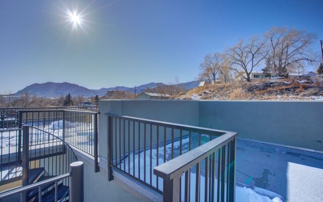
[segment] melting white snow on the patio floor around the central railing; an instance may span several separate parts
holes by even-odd
[[[182,152],[185,153],[188,151],[188,143],[189,143],[189,138],[185,138],[182,139]],[[180,148],[180,141],[176,141],[174,142],[174,150],[179,150]],[[171,149],[172,149],[172,144],[167,144],[166,145],[166,161],[170,160],[171,158]],[[125,161],[121,161],[121,164],[118,165],[121,166],[121,168],[124,168],[124,163],[125,165],[125,172],[128,172],[130,170],[130,174],[133,175],[134,172],[134,176],[136,178],[139,178],[139,173],[140,173],[140,180],[144,181],[144,170],[146,170],[146,183],[149,184],[150,182],[150,172],[152,175],[152,179],[151,179],[151,185],[153,187],[156,187],[156,176],[153,175],[153,168],[157,166],[157,149],[156,148],[152,148],[151,151],[151,163],[152,165],[150,165],[150,149],[147,149],[145,154],[144,151],[142,151],[139,154],[135,154],[134,159],[135,162],[133,162],[133,154],[130,154],[129,157],[125,158]],[[145,158],[144,158],[145,155]],[[144,162],[144,159],[146,159],[146,162]],[[140,161],[140,170],[138,170],[138,160]],[[130,167],[128,167],[128,163],[130,162]],[[133,164],[134,163],[134,164]],[[145,164],[144,164],[145,163]],[[158,165],[163,164],[164,163],[164,146],[160,146],[158,147]],[[133,165],[135,165],[135,167],[133,167]],[[145,166],[145,167],[144,167]],[[135,169],[134,169],[135,168]],[[191,169],[191,176],[190,176],[190,197],[191,198],[195,198],[195,179],[196,179],[196,172],[195,169],[192,168]],[[217,181],[217,179],[215,179]],[[200,198],[201,200],[204,199],[204,170],[203,168],[201,169],[201,176],[200,176]],[[182,176],[182,184],[184,184],[185,182],[185,177]],[[217,190],[217,183],[214,183],[214,190]],[[163,179],[158,178],[158,189],[163,191]],[[280,202],[282,201],[279,197],[274,197],[274,198],[270,198],[266,195],[262,195],[260,193],[257,193],[255,190],[262,190],[262,193],[266,193],[267,190],[265,189],[261,189],[261,188],[257,188],[254,187],[249,188],[249,187],[240,187],[240,186],[236,186],[236,201],[237,202]],[[270,191],[267,191],[270,192]],[[184,193],[184,186],[182,186],[182,193]],[[217,191],[214,191],[214,193],[217,193]],[[272,194],[273,195],[273,194]],[[275,194],[274,194],[275,195]],[[279,194],[276,194],[279,195]],[[184,196],[182,195],[182,200],[184,200],[183,198]]]

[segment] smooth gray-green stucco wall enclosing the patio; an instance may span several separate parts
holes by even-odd
[[[323,102],[100,100],[99,111],[100,144],[107,142],[104,113],[110,112],[235,131],[239,138],[323,151]],[[106,158],[106,149],[101,149]]]

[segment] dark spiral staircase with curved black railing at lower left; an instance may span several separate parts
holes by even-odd
[[[17,145],[17,149],[15,149],[17,153],[7,155],[11,156],[11,159],[7,158],[6,161],[3,161],[4,153],[1,154],[0,186],[17,186],[21,179],[22,188],[34,183],[45,182],[43,185],[23,191],[27,196],[24,196],[22,201],[40,201],[39,195],[41,195],[41,201],[45,202],[69,201],[69,178],[53,181],[51,179],[70,173],[70,164],[77,161],[73,149],[59,137],[36,127],[23,126],[21,132],[22,146],[18,149],[19,144]],[[18,154],[19,150],[22,150],[20,154]],[[27,178],[23,176],[26,171],[28,171]],[[41,194],[39,194],[39,190],[41,190]],[[3,194],[0,194],[0,201]]]

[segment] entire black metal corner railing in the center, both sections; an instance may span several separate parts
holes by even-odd
[[[199,201],[200,197],[205,201],[213,201],[214,197],[219,201],[233,201],[237,133],[105,115],[109,129],[109,181],[113,180],[115,170],[163,193],[164,201],[189,201],[190,198]],[[167,175],[171,168],[174,172]],[[201,178],[203,191],[199,186]],[[216,179],[218,183],[214,183]],[[196,191],[190,194],[191,181]],[[207,195],[200,194],[202,192]]]

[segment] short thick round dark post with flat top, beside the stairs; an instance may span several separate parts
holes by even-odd
[[[83,162],[77,161],[70,164],[70,201],[83,202],[84,200],[84,179]]]

